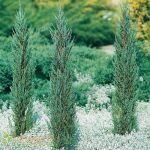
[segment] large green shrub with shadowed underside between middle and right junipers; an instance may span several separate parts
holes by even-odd
[[[96,47],[113,43],[115,10],[110,2],[75,1],[65,6],[65,12],[77,43]]]

